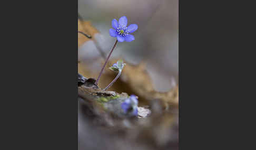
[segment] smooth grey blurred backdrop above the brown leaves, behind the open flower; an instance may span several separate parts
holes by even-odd
[[[135,40],[119,42],[111,58],[122,57],[133,64],[146,62],[157,91],[166,92],[178,84],[178,0],[78,0],[78,14],[100,31],[106,54],[116,40],[109,35],[111,21],[125,15],[127,25],[139,28],[133,33]]]

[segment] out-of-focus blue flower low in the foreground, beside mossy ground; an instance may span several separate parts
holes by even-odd
[[[121,108],[123,109],[125,114],[131,114],[136,116],[138,114],[137,110],[138,100],[135,95],[131,95],[130,98],[126,99],[122,104]]]

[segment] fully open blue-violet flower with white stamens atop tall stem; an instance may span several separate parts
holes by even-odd
[[[118,22],[116,19],[113,19],[112,27],[114,29],[112,28],[110,29],[110,36],[116,37],[119,42],[133,41],[134,36],[131,35],[131,33],[133,33],[138,28],[138,26],[136,24],[131,24],[128,27],[126,26],[127,26],[126,16],[121,17]]]

